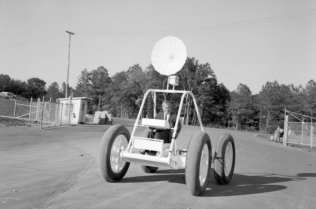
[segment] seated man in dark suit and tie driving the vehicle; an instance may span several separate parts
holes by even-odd
[[[157,114],[156,119],[166,120],[169,122],[170,127],[173,128],[176,123],[177,114],[171,112],[171,102],[165,100],[161,104],[163,112]],[[155,129],[151,128],[152,130],[148,133],[147,138],[150,139],[162,139],[164,143],[171,143],[172,140],[172,131],[171,129]],[[178,124],[177,128],[177,135],[179,134],[180,124]],[[156,155],[157,152],[145,150],[143,152],[139,152],[145,155]]]

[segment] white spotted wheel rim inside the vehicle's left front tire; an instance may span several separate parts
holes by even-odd
[[[122,160],[119,154],[121,150],[126,149],[127,145],[127,139],[124,135],[119,135],[116,137],[112,144],[110,164],[114,173],[121,172],[126,164],[126,161]]]

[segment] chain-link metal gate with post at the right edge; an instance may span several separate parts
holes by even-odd
[[[316,118],[285,110],[283,143],[316,146]]]

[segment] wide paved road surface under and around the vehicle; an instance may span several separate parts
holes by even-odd
[[[115,121],[131,132],[131,120]],[[148,174],[131,164],[121,181],[105,182],[97,155],[109,126],[0,128],[0,208],[315,208],[316,155],[249,132],[204,128],[213,149],[221,134],[234,137],[236,164],[227,185],[212,169],[201,196],[187,191],[184,169]],[[184,126],[178,147],[198,130]]]

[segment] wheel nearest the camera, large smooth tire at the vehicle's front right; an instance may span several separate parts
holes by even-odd
[[[206,190],[211,162],[210,137],[203,131],[196,132],[190,139],[185,159],[185,184],[192,195],[198,196]]]

